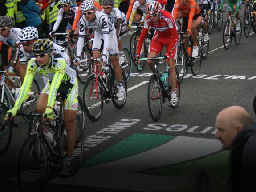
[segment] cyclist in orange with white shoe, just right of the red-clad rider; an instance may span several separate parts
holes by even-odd
[[[173,16],[175,20],[177,19],[179,11],[183,14],[182,32],[186,32],[187,36],[192,35],[192,57],[196,57],[199,54],[199,48],[197,46],[197,29],[202,20],[201,10],[194,0],[177,0],[173,9]],[[184,45],[187,46],[187,44],[188,40],[184,39]]]

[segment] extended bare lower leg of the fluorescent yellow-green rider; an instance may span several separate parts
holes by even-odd
[[[72,158],[73,149],[76,142],[75,133],[75,120],[77,111],[75,110],[64,110],[64,125],[67,131],[66,144],[67,144],[67,158]]]

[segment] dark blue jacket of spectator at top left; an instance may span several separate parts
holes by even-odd
[[[40,8],[34,0],[21,0],[20,8],[26,19],[27,26],[37,27],[42,23]]]

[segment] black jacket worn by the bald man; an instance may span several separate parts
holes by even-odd
[[[256,124],[237,134],[229,155],[232,191],[256,191]]]

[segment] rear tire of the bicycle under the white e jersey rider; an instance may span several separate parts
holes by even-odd
[[[114,74],[114,71],[111,71],[111,80],[112,82],[110,83],[111,84],[111,87],[110,87],[110,90],[111,90],[111,93],[113,94],[113,97],[112,97],[112,102],[114,104],[114,106],[118,109],[122,109],[126,103],[126,99],[127,99],[127,81],[126,81],[126,75],[125,75],[125,72],[122,70],[122,84],[125,88],[125,97],[123,100],[121,101],[118,101],[117,99],[117,93],[118,93],[118,80],[116,79],[116,76]]]

